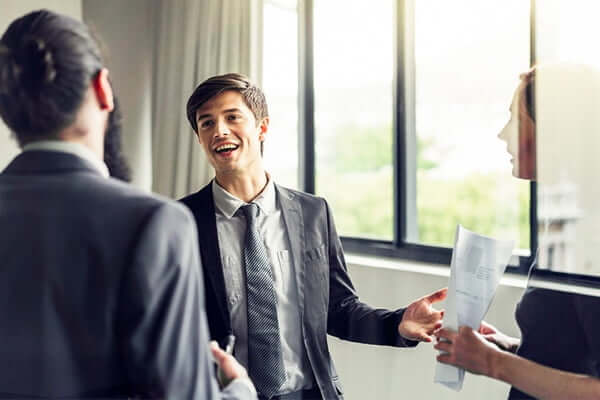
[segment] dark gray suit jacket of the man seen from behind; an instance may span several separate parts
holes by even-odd
[[[187,210],[30,151],[0,174],[0,227],[0,397],[221,398]]]

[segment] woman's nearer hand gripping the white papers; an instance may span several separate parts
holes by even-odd
[[[440,329],[435,336],[438,342],[433,347],[445,352],[437,356],[439,362],[464,368],[474,374],[494,377],[496,356],[502,351],[481,334],[468,326],[461,326],[458,333]]]

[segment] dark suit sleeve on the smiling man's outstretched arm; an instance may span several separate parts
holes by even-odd
[[[418,342],[398,333],[404,309],[375,309],[360,301],[348,275],[342,242],[335,229],[331,209],[325,200],[329,258],[329,310],[327,332],[354,342],[412,347]]]

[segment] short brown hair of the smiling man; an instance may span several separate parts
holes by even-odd
[[[269,116],[267,100],[263,91],[253,84],[247,76],[235,73],[217,75],[202,82],[194,90],[194,93],[192,93],[187,102],[187,117],[194,132],[198,133],[196,111],[204,103],[226,90],[235,90],[242,95],[244,103],[246,103],[252,114],[254,114],[257,123]]]

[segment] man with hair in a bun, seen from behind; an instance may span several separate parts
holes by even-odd
[[[112,88],[85,25],[48,11],[0,39],[0,116],[23,152],[0,174],[0,397],[253,399],[213,377],[196,227],[111,179]]]

